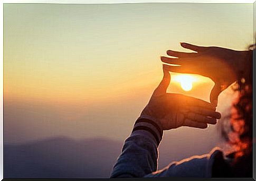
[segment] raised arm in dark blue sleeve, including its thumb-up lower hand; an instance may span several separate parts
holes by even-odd
[[[110,178],[144,177],[157,170],[158,145],[163,130],[180,126],[207,128],[216,124],[220,113],[203,100],[181,94],[166,93],[170,75],[156,88],[148,105],[137,119],[131,135],[126,139]]]

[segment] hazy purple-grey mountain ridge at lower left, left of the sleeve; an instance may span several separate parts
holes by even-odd
[[[4,177],[109,177],[122,142],[55,137],[4,145]]]

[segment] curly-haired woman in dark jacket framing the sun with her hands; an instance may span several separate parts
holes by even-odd
[[[201,47],[182,43],[195,51],[167,51],[177,58],[161,57],[164,78],[148,105],[136,120],[131,135],[113,167],[111,178],[118,177],[252,177],[252,51],[233,51],[221,47]],[[169,72],[200,74],[211,78],[211,104],[182,94],[169,94]],[[214,148],[210,154],[191,157],[157,170],[158,145],[164,130],[180,126],[207,128],[216,124],[220,113],[215,112],[217,97],[232,83],[238,85],[239,97],[234,102],[230,120],[232,154],[224,155]]]

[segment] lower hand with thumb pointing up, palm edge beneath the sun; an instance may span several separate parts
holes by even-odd
[[[169,83],[170,74],[164,69],[163,80],[155,89],[141,116],[153,118],[163,130],[181,126],[207,128],[207,124],[216,124],[216,119],[221,118],[221,114],[215,112],[215,107],[204,100],[166,93]]]

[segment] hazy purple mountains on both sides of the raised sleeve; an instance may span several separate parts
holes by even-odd
[[[186,131],[165,134],[159,147],[159,168],[174,160],[208,153],[217,142],[214,132],[189,129],[187,134]],[[103,138],[67,137],[4,144],[4,177],[108,178],[122,144]]]

